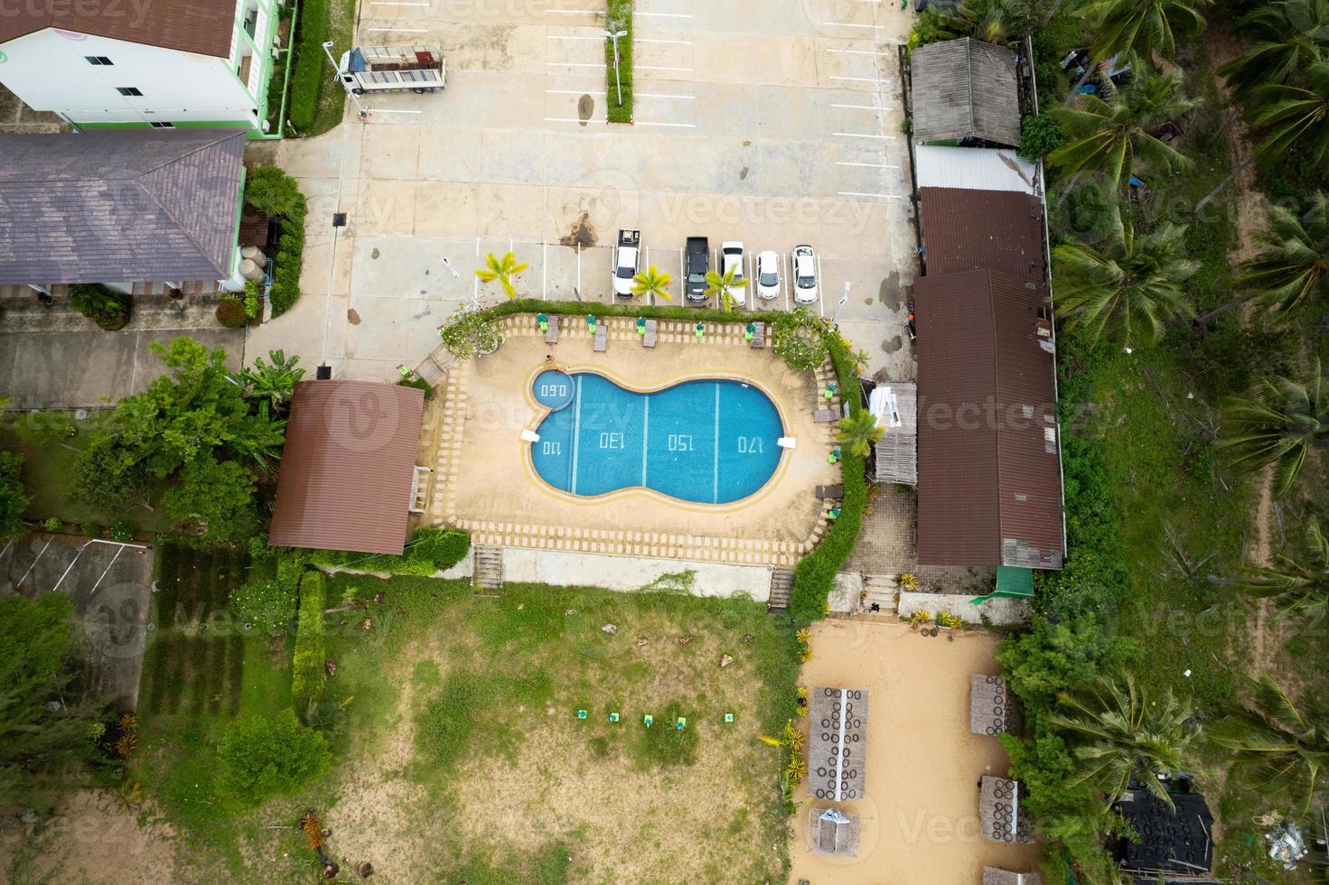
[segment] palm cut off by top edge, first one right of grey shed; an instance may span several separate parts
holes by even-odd
[[[1092,23],[1094,58],[1138,56],[1152,62],[1176,54],[1176,39],[1195,40],[1204,32],[1196,5],[1212,0],[1094,0],[1080,12]]]

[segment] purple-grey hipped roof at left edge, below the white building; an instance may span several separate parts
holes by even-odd
[[[223,279],[245,130],[0,136],[0,283]]]

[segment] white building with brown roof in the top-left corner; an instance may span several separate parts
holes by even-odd
[[[0,15],[0,84],[77,129],[266,129],[278,0],[25,0]]]

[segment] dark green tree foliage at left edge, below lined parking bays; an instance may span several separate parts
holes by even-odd
[[[74,700],[65,667],[72,615],[58,593],[0,598],[0,805],[48,808],[94,757],[97,711]]]

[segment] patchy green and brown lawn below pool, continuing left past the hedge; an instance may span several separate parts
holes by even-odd
[[[332,771],[242,812],[213,791],[215,743],[234,716],[290,703],[290,640],[203,638],[223,631],[194,615],[243,567],[239,554],[163,550],[166,635],[145,667],[136,776],[199,869],[306,874],[312,854],[284,827],[315,808],[330,850],[385,881],[784,876],[780,752],[758,735],[792,716],[799,667],[792,627],[764,606],[545,586],[493,598],[466,582],[339,575],[327,698],[347,727],[331,739]]]

